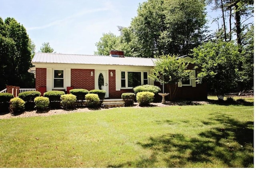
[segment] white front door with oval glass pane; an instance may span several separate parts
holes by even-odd
[[[108,98],[108,71],[96,70],[95,71],[95,89],[105,90],[105,98]]]

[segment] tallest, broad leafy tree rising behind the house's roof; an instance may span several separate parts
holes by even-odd
[[[206,38],[202,0],[148,0],[131,22],[132,48],[137,57],[188,54]]]

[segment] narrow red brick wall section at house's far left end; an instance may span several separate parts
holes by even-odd
[[[46,87],[46,68],[36,68],[36,91],[39,87]]]

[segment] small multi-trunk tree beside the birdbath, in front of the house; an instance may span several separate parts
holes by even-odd
[[[177,59],[177,55],[161,55],[155,62],[152,69],[150,79],[161,84],[167,84],[170,100],[174,100],[178,92],[178,81],[186,79],[189,70],[186,70],[188,63],[184,63],[182,59]]]

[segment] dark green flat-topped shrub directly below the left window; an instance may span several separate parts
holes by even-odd
[[[64,91],[47,91],[44,93],[44,97],[48,97],[50,101],[51,108],[59,108],[60,107],[60,96],[64,95]]]

